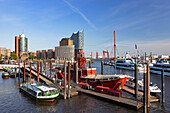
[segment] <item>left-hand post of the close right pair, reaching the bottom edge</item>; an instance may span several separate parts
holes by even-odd
[[[145,65],[144,65],[144,68],[145,68]],[[146,74],[146,72],[144,72],[144,94],[143,94],[143,112],[144,113],[147,113],[147,105],[146,105],[146,101],[147,101],[147,95],[146,95],[146,93],[147,93],[147,87],[146,87],[146,78],[147,78],[147,74]]]

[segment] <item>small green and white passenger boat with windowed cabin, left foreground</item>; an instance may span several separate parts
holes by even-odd
[[[21,84],[20,91],[36,101],[53,102],[59,96],[56,88],[34,82]]]

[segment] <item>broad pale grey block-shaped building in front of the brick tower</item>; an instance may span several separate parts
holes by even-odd
[[[55,58],[74,61],[74,45],[55,47]]]

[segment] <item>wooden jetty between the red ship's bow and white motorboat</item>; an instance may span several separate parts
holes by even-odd
[[[123,90],[124,91],[126,91],[126,92],[128,92],[128,93],[131,93],[131,94],[135,94],[135,90],[134,89],[132,89],[132,88],[129,88],[128,86],[124,86],[123,87]],[[143,98],[143,92],[141,92],[141,91],[138,91],[138,95],[140,95],[139,97],[141,97],[141,98],[139,98],[139,100],[143,100],[142,98]],[[156,96],[152,96],[152,95],[150,95],[150,102],[158,102],[159,101],[159,99],[156,97]]]

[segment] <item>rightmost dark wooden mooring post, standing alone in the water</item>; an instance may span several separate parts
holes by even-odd
[[[161,79],[162,79],[162,106],[164,106],[165,103],[164,69],[162,69]]]

